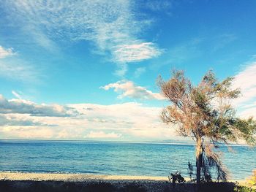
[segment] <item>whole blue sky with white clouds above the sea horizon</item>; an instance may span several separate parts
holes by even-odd
[[[159,75],[235,77],[256,114],[256,1],[0,0],[0,139],[181,139]]]

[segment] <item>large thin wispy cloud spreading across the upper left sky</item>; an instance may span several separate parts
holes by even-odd
[[[116,64],[154,58],[162,50],[138,34],[150,20],[136,18],[135,2],[120,1],[7,1],[15,20],[22,18],[20,27],[45,47],[54,39],[89,40],[99,51],[110,53]],[[10,11],[11,12],[11,11]],[[25,27],[23,27],[25,26]]]

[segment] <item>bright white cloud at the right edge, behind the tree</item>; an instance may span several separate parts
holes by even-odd
[[[241,96],[235,99],[233,105],[243,117],[255,116],[256,112],[256,62],[247,64],[236,74],[233,88],[240,88]],[[256,117],[256,116],[255,116]]]

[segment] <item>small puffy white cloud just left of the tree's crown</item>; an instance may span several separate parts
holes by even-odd
[[[115,92],[119,92],[118,98],[122,99],[124,97],[129,97],[133,99],[156,99],[156,100],[164,100],[164,96],[160,93],[153,93],[152,91],[148,91],[146,88],[141,86],[135,86],[132,81],[121,80],[118,82],[110,83],[101,87],[108,91],[110,88],[113,88]]]

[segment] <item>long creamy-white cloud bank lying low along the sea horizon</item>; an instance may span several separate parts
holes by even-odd
[[[7,101],[15,101],[9,99]],[[16,100],[17,101],[17,100]],[[170,139],[176,135],[162,123],[161,107],[146,107],[139,103],[124,104],[66,104],[61,109],[71,110],[68,115],[56,112],[51,105],[25,103],[19,110],[5,110],[0,114],[0,138],[22,139],[113,139],[148,141]],[[39,115],[31,115],[31,105],[39,108]],[[1,107],[0,107],[1,108]],[[6,107],[5,107],[6,108]],[[15,109],[15,110],[13,110]],[[42,112],[42,110],[45,110]],[[70,113],[75,115],[69,115]],[[55,114],[53,114],[53,112]],[[67,111],[66,111],[67,112]]]

